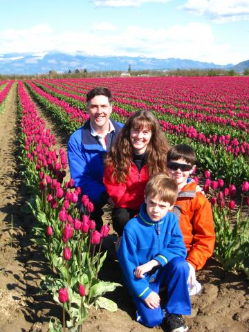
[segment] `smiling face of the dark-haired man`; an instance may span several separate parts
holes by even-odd
[[[87,105],[90,121],[93,128],[98,131],[107,129],[111,114],[111,104],[105,95],[95,95]]]

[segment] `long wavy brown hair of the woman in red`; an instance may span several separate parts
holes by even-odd
[[[126,176],[129,175],[133,156],[133,147],[130,140],[131,128],[146,128],[151,131],[151,139],[146,149],[149,176],[158,172],[167,172],[166,155],[169,150],[169,143],[160,129],[158,120],[150,111],[136,111],[125,122],[104,161],[105,167],[113,168],[112,179],[115,179],[118,183],[124,183]]]

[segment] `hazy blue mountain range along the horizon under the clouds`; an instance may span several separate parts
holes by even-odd
[[[176,70],[178,69],[234,69],[243,71],[249,67],[249,60],[234,66],[199,62],[190,59],[157,59],[155,57],[97,56],[84,52],[62,53],[56,50],[39,53],[0,54],[0,74],[34,75],[57,71],[72,72],[75,69],[87,71],[132,71],[142,70]],[[236,69],[238,68],[238,69]]]

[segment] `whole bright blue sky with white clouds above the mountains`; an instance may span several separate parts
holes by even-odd
[[[249,59],[249,0],[0,0],[0,54]]]

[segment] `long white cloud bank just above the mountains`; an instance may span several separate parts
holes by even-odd
[[[128,26],[123,30],[106,30],[104,34],[91,26],[89,30],[62,33],[54,33],[49,26],[44,33],[39,28],[6,30],[0,31],[0,50],[1,53],[32,52],[33,57],[39,58],[46,54],[45,50],[66,53],[80,50],[91,55],[178,57],[215,64],[236,64],[246,60],[249,53],[247,45],[239,53],[228,44],[218,44],[210,26],[200,23],[159,29]]]

